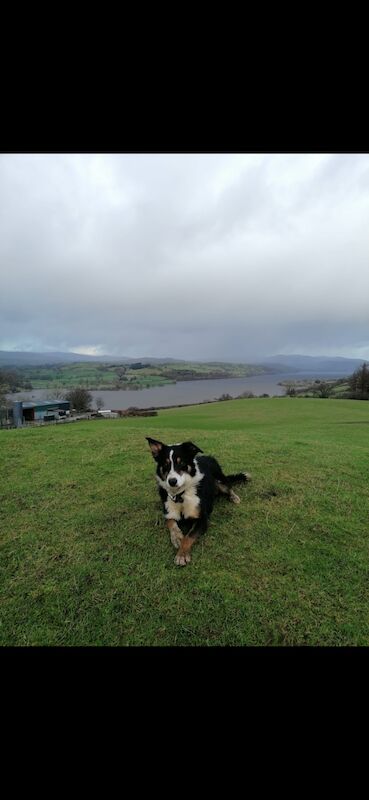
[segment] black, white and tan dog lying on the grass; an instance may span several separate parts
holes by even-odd
[[[191,561],[191,548],[207,530],[217,494],[240,503],[232,485],[251,479],[248,472],[224,475],[213,456],[193,442],[164,444],[146,436],[156,461],[156,480],[170,539],[178,551],[174,563],[184,567]],[[199,455],[199,454],[202,455]]]

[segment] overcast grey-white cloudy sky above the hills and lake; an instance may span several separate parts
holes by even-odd
[[[369,155],[0,155],[0,349],[369,358]]]

